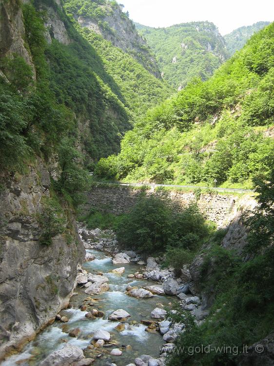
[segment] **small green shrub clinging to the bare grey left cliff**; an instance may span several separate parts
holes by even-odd
[[[52,238],[64,232],[66,218],[56,198],[45,196],[42,199],[42,212],[38,215],[38,222],[42,228],[39,239],[41,244],[52,244]]]

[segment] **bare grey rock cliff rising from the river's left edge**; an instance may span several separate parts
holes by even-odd
[[[1,176],[0,193],[0,359],[31,339],[68,305],[75,287],[77,265],[84,248],[77,225],[66,209],[70,234],[39,243],[37,214],[49,196],[50,175],[38,160],[22,176]]]

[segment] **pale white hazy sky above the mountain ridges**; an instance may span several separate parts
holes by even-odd
[[[274,20],[274,0],[120,0],[130,18],[152,27],[214,22],[222,35],[242,25]]]

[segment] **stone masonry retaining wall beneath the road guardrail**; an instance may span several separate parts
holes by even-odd
[[[92,207],[104,210],[116,215],[128,212],[137,202],[142,190],[126,186],[96,186],[87,193],[87,203],[84,210],[88,212]],[[152,190],[145,191],[147,195]],[[201,212],[207,220],[217,224],[217,227],[226,226],[235,216],[236,202],[239,200],[234,195],[201,194],[195,196],[193,192],[171,191],[172,200],[184,207],[196,201]]]

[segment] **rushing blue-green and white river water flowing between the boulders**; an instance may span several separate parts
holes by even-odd
[[[170,296],[155,295],[149,299],[136,299],[126,295],[126,286],[145,287],[148,285],[156,285],[154,281],[137,280],[128,278],[127,275],[134,274],[140,270],[138,264],[112,264],[111,257],[106,256],[103,252],[96,250],[87,250],[96,256],[96,259],[83,264],[83,268],[90,273],[96,274],[102,272],[109,278],[110,289],[100,295],[87,295],[83,288],[76,288],[78,295],[71,298],[71,308],[62,310],[60,314],[66,316],[68,323],[54,322],[42,331],[34,341],[30,342],[20,354],[11,356],[4,361],[2,366],[38,366],[39,362],[53,351],[64,346],[64,342],[78,346],[84,350],[87,358],[96,358],[93,365],[105,366],[108,363],[115,363],[117,366],[125,366],[134,363],[134,359],[142,354],[153,357],[159,357],[160,347],[162,346],[162,336],[156,333],[148,333],[145,331],[146,326],[141,324],[141,320],[151,319],[151,311],[156,307],[170,307],[170,303],[174,304],[176,298]],[[122,275],[109,273],[114,268],[125,267]],[[87,311],[81,311],[79,306],[85,304],[84,299],[92,297],[96,299],[94,308],[104,312],[103,318],[95,320],[87,319],[85,314]],[[115,327],[120,322],[108,320],[108,316],[117,309],[124,309],[130,315],[125,324],[125,329],[118,332]],[[136,323],[136,324],[135,324]],[[68,331],[80,328],[81,332],[78,338],[69,336]],[[111,341],[116,341],[117,346],[100,347],[89,349],[87,346],[91,344],[92,336],[98,329],[103,329],[111,333]],[[127,346],[127,347],[126,347]],[[112,356],[110,352],[113,348],[122,350],[121,356]],[[96,356],[101,354],[100,358]]]

